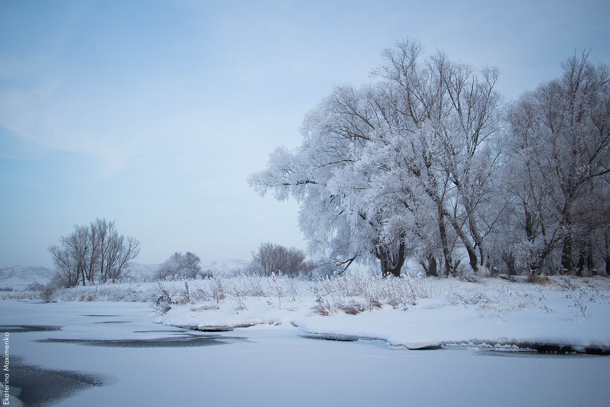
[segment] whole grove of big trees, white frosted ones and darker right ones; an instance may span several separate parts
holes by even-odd
[[[301,145],[276,148],[249,185],[295,198],[310,247],[337,264],[608,273],[610,70],[586,54],[562,68],[504,103],[496,68],[398,41],[375,81],[334,88],[304,118]]]

